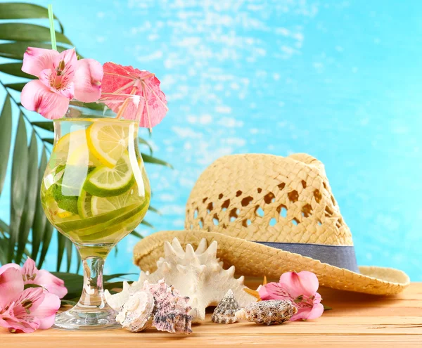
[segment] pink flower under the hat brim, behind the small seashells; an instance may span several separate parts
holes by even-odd
[[[260,298],[266,299],[287,299],[298,308],[291,321],[299,319],[316,319],[324,312],[321,304],[321,295],[318,290],[319,282],[312,272],[302,271],[283,273],[279,283],[268,283],[259,288]]]

